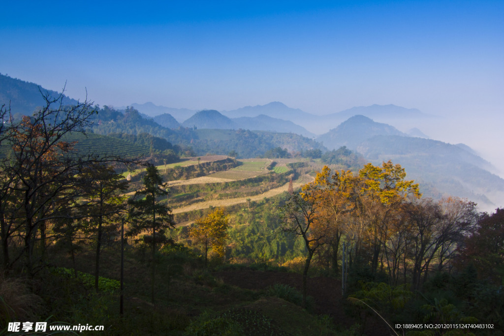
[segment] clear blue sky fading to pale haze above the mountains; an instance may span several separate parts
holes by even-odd
[[[6,1],[1,12],[0,72],[67,82],[72,98],[314,114],[395,104],[463,118],[421,129],[434,139],[495,160],[504,145],[502,0]]]

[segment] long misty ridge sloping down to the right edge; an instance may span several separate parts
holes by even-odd
[[[467,149],[466,149],[467,148]],[[392,160],[420,182],[426,196],[456,195],[493,206],[504,196],[504,179],[487,171],[491,164],[466,145],[400,136],[375,136],[357,151],[373,164]]]

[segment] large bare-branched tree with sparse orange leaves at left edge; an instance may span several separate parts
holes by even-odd
[[[12,147],[10,154],[2,159],[2,197],[0,218],[3,224],[4,264],[10,264],[9,238],[16,234],[23,241],[26,270],[33,276],[36,261],[35,243],[45,244],[47,224],[51,221],[73,216],[68,208],[78,197],[75,185],[77,175],[90,156],[78,155],[73,143],[66,137],[72,132],[84,132],[92,124],[95,110],[88,101],[65,106],[64,96],[43,95],[45,105],[19,123],[6,119],[7,132],[3,142]],[[4,122],[3,121],[3,122]],[[64,206],[62,206],[64,205]],[[6,252],[7,251],[7,252]],[[12,258],[14,261],[18,256]]]

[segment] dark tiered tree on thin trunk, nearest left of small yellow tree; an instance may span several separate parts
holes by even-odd
[[[143,176],[144,186],[135,192],[130,199],[130,222],[127,232],[129,236],[136,236],[143,232],[151,232],[152,235],[144,236],[144,241],[152,247],[152,288],[151,296],[154,304],[154,283],[156,276],[156,246],[164,238],[164,232],[173,228],[175,222],[168,205],[161,202],[160,197],[167,197],[167,183],[163,183],[159,170],[154,165],[148,165]]]

